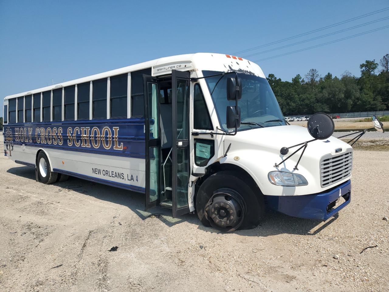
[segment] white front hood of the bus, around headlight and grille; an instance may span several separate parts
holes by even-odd
[[[255,128],[238,132],[235,136],[225,136],[224,151],[231,143],[227,157],[222,158],[220,163],[235,164],[247,171],[256,181],[265,195],[307,195],[319,193],[337,184],[350,179],[345,177],[334,184],[321,185],[321,159],[342,155],[352,152],[352,147],[331,136],[326,140],[316,140],[307,144],[307,148],[298,162],[302,149],[284,163],[282,160],[289,157],[301,146],[289,149],[286,155],[280,154],[282,147],[291,147],[312,140],[307,128],[287,125],[266,128]],[[324,158],[323,158],[324,159]],[[298,163],[297,169],[295,169]],[[275,164],[280,164],[275,167]],[[268,180],[271,171],[294,172],[303,175],[308,185],[298,187],[275,186]]]

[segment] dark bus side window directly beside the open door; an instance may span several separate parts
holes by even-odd
[[[151,75],[151,68],[131,72],[131,117],[145,114],[143,74]]]

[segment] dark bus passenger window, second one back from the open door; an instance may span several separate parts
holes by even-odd
[[[110,118],[127,118],[128,74],[110,77]]]

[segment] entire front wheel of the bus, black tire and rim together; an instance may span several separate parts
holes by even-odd
[[[221,171],[200,186],[196,209],[205,226],[224,232],[250,229],[259,224],[264,213],[263,195],[254,193],[237,172]]]

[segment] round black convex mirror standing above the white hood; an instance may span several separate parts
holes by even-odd
[[[334,121],[328,114],[315,113],[307,123],[309,134],[319,140],[328,139],[335,130]]]

